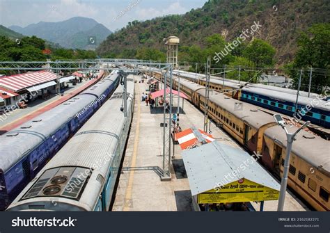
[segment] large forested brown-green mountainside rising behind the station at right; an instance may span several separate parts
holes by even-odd
[[[184,15],[157,17],[129,24],[109,35],[98,47],[103,56],[133,58],[139,49],[165,51],[163,38],[180,38],[180,51],[187,46],[206,47],[205,38],[221,34],[230,42],[242,31],[259,22],[253,37],[269,42],[276,49],[276,63],[292,61],[297,51],[297,38],[310,26],[330,20],[327,0],[209,0],[202,8]]]

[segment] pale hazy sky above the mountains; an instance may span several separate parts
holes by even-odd
[[[0,24],[27,26],[59,22],[74,16],[90,17],[111,31],[134,19],[182,14],[200,8],[206,0],[0,0]],[[120,12],[125,14],[120,14]],[[117,18],[118,19],[114,19]]]

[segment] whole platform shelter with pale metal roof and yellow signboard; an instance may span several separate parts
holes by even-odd
[[[195,210],[249,210],[278,200],[280,185],[243,150],[218,141],[182,152]],[[250,209],[251,210],[251,209]]]

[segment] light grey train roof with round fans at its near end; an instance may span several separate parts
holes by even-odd
[[[131,77],[127,77],[127,93],[127,108],[130,108],[134,97],[134,79]],[[93,210],[102,185],[107,182],[106,177],[109,167],[114,163],[113,158],[118,156],[118,140],[123,133],[123,127],[129,124],[125,122],[127,119],[120,111],[122,104],[123,87],[118,86],[111,98],[38,172],[36,179],[24,188],[10,208],[26,209],[29,203],[33,202],[45,205],[45,209]],[[43,195],[41,190],[45,191],[47,184],[52,179],[61,177],[61,174],[68,177],[67,182],[61,184],[61,190],[56,195]],[[38,182],[44,180],[45,182],[38,186]],[[79,182],[76,182],[77,180]],[[35,191],[35,186],[39,188],[38,191]],[[58,202],[56,207],[52,205],[53,199]]]

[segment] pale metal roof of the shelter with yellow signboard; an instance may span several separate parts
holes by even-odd
[[[185,150],[182,158],[192,195],[216,188],[228,174],[233,177],[228,184],[244,178],[280,190],[278,182],[248,153],[218,141]]]

